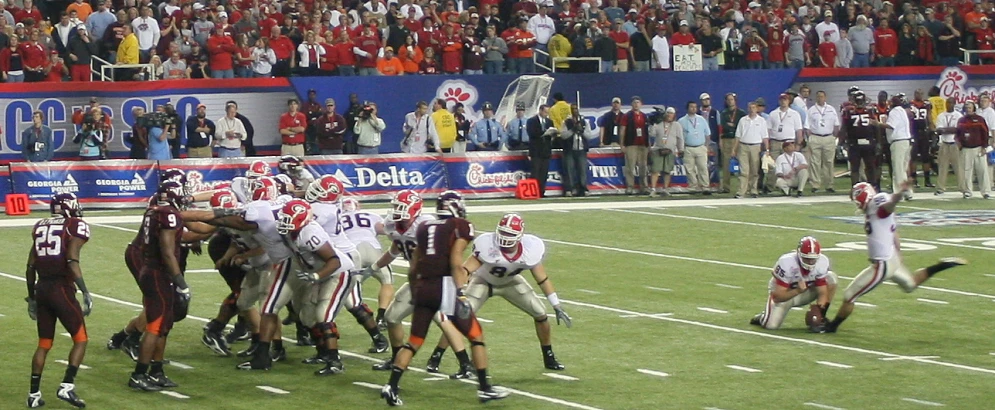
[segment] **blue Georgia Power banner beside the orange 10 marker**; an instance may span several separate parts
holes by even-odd
[[[10,181],[13,192],[27,194],[33,205],[68,192],[101,207],[144,206],[159,186],[159,167],[145,160],[15,163]]]

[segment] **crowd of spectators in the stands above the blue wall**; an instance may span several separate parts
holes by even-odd
[[[668,70],[690,44],[705,70],[995,49],[992,0],[0,0],[0,17],[3,82],[89,81],[93,57],[131,80]]]

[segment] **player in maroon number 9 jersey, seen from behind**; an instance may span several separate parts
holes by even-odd
[[[139,235],[143,238],[139,287],[145,309],[145,335],[138,363],[128,380],[136,390],[159,391],[176,387],[162,369],[166,337],[173,327],[174,305],[189,305],[190,288],[180,270],[180,243],[183,239],[183,186],[166,182],[156,191],[156,206],[145,211]],[[185,311],[185,309],[178,309]]]

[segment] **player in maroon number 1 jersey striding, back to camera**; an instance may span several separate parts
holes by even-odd
[[[453,203],[462,205],[462,201]],[[455,316],[456,327],[470,339],[477,380],[480,383],[477,398],[481,402],[487,402],[508,397],[507,391],[494,388],[487,380],[484,331],[462,292],[469,279],[469,272],[463,268],[463,251],[473,240],[473,225],[466,219],[455,216],[462,215],[465,211],[451,212],[453,217],[425,222],[415,234],[416,244],[412,252],[411,268],[408,270],[408,283],[411,284],[414,303],[411,336],[394,359],[390,382],[380,389],[380,397],[391,406],[402,404],[397,393],[398,383],[412,357],[425,342],[428,327],[440,311]]]

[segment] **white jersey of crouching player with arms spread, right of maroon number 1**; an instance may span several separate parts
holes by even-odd
[[[518,244],[518,252],[505,255],[497,244],[497,234],[480,234],[473,240],[471,254],[480,261],[480,268],[474,275],[484,279],[491,286],[502,287],[515,284],[515,276],[526,269],[542,263],[546,254],[546,244],[535,235],[523,235]]]

